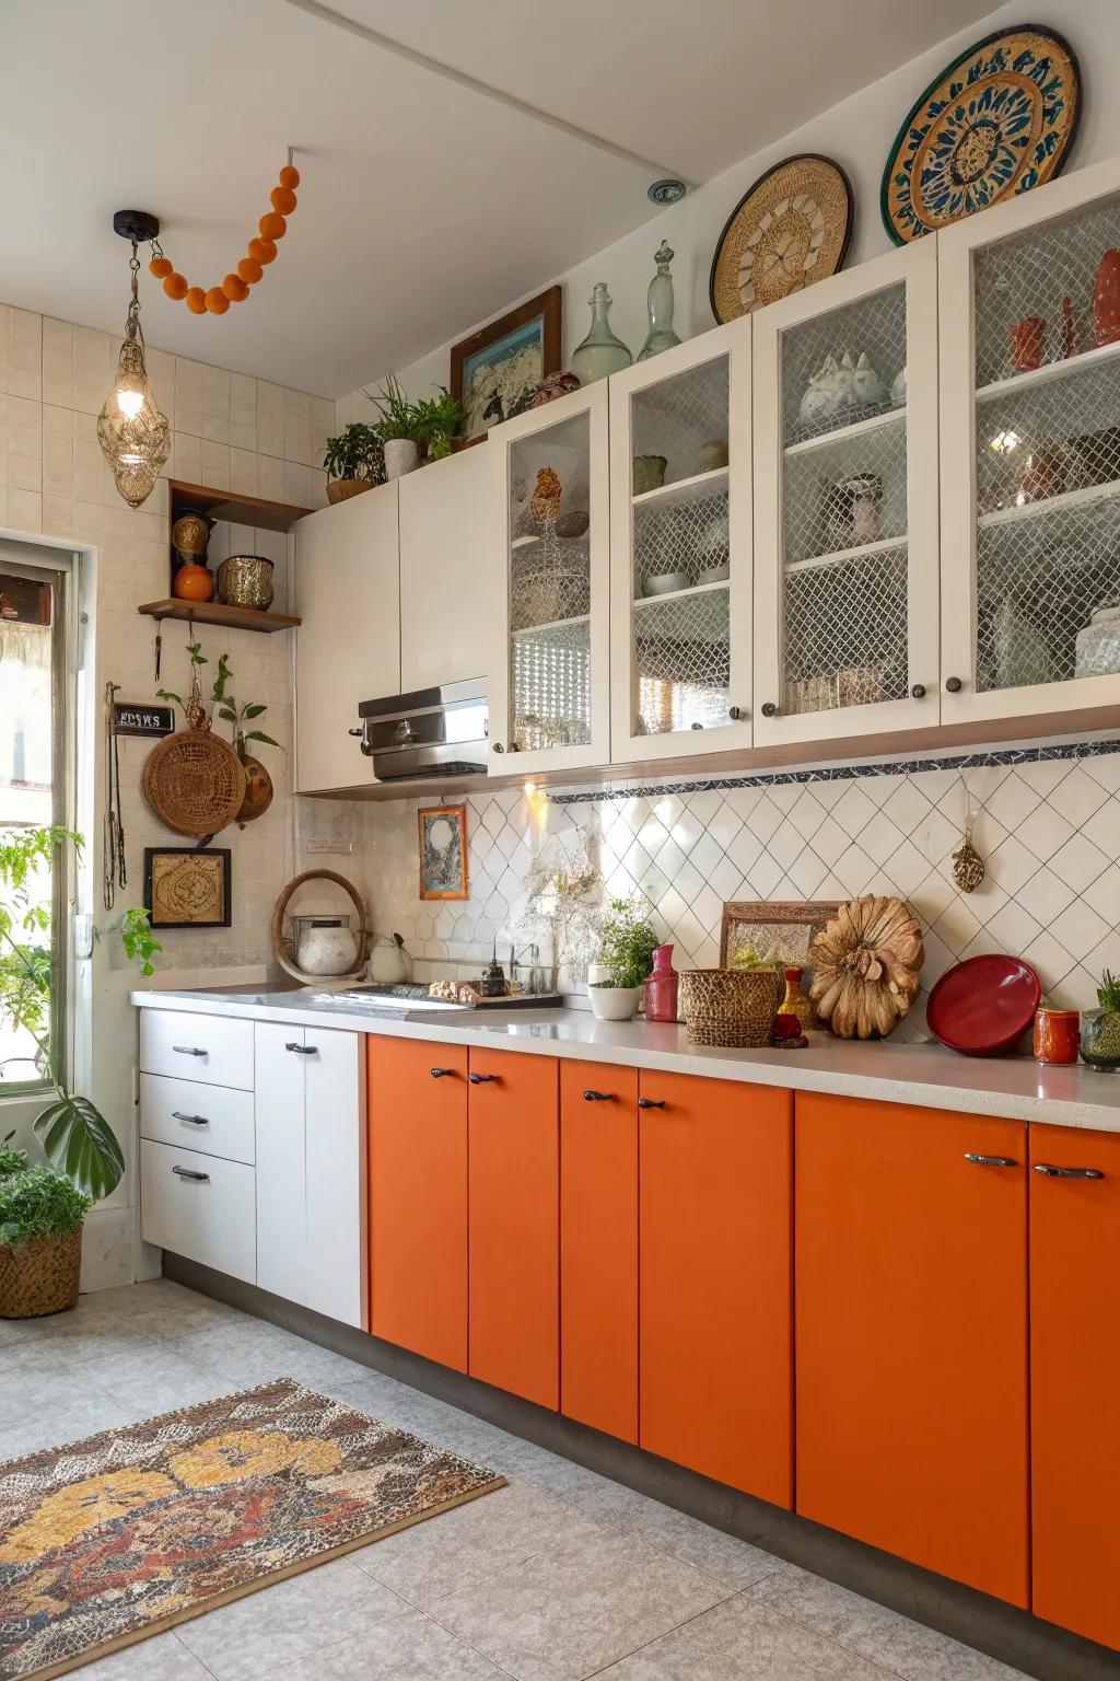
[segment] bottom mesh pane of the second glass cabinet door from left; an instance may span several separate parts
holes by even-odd
[[[635,733],[729,723],[727,587],[648,602],[633,612]]]

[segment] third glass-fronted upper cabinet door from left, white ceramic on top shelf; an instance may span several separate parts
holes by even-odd
[[[937,249],[754,316],[754,741],[939,721]]]

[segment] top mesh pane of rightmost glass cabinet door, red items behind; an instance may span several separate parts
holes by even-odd
[[[977,250],[976,383],[1090,350],[1096,271],[1118,245],[1120,200],[1112,200]]]

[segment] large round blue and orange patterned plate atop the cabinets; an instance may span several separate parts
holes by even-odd
[[[977,40],[895,136],[880,192],[887,232],[907,245],[1053,180],[1080,116],[1078,64],[1055,30],[1021,24]]]

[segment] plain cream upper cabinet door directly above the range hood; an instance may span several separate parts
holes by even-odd
[[[403,694],[489,676],[502,588],[492,456],[475,444],[396,481]]]

